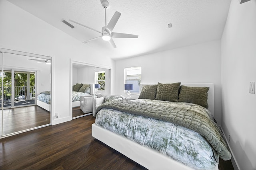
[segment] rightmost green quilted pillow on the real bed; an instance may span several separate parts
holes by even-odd
[[[209,87],[180,86],[179,102],[198,104],[208,109]]]

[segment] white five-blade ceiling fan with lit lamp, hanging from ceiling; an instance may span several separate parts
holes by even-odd
[[[83,25],[82,23],[78,23],[76,21],[69,20],[73,23],[76,23],[76,24],[81,25],[83,27],[92,29],[93,31],[96,31],[98,33],[101,33],[101,36],[89,39],[87,41],[84,41],[83,43],[88,43],[92,40],[95,40],[95,39],[98,39],[98,38],[102,37],[103,40],[108,41],[112,45],[112,47],[116,48],[116,44],[114,43],[112,38],[138,38],[138,35],[112,32],[112,30],[114,29],[118,19],[121,16],[121,13],[116,11],[114,16],[112,16],[111,20],[109,21],[109,23],[107,25],[106,9],[109,7],[109,3],[108,3],[107,0],[100,0],[100,2],[102,4],[103,8],[105,9],[105,26],[102,27],[101,31],[98,31],[96,29],[93,29],[91,27]]]

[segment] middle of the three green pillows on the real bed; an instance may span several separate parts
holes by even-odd
[[[157,84],[155,100],[164,100],[169,102],[178,102],[178,92],[180,82],[172,84]]]

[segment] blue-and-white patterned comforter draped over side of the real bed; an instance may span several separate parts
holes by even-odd
[[[179,125],[106,108],[98,111],[95,123],[194,169],[211,170],[217,165],[206,139]]]

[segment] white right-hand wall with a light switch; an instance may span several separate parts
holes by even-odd
[[[221,40],[222,129],[240,170],[256,170],[256,1],[232,0]]]

